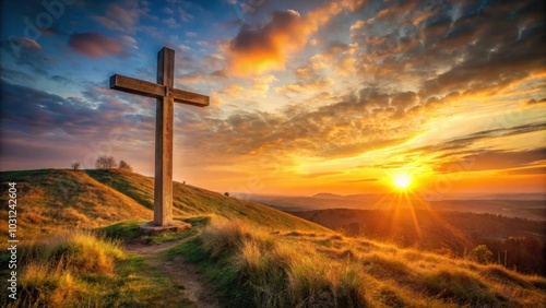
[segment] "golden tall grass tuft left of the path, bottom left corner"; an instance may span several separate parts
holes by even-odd
[[[19,307],[66,307],[96,303],[93,281],[115,275],[126,258],[119,244],[85,230],[34,242],[21,253]]]

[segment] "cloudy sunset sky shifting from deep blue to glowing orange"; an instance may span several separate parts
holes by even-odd
[[[1,2],[0,170],[154,174],[155,82],[175,106],[174,178],[218,192],[382,193],[405,173],[429,199],[546,193],[543,1]]]

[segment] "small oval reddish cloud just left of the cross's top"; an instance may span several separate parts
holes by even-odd
[[[74,33],[68,44],[72,50],[91,58],[121,55],[124,47],[123,43],[96,32]]]

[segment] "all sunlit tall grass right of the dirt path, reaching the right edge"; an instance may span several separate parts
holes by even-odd
[[[229,305],[544,307],[546,299],[544,277],[334,234],[215,217],[185,245],[176,251],[203,264]]]

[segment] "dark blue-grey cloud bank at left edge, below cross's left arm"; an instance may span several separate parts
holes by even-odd
[[[54,134],[81,140],[107,139],[115,129],[134,130],[136,126],[124,120],[127,114],[136,111],[133,104],[116,98],[112,93],[92,95],[93,92],[96,91],[87,92],[90,100],[85,96],[63,98],[2,81],[2,125],[36,139]],[[149,117],[140,118],[144,123],[153,122]]]

